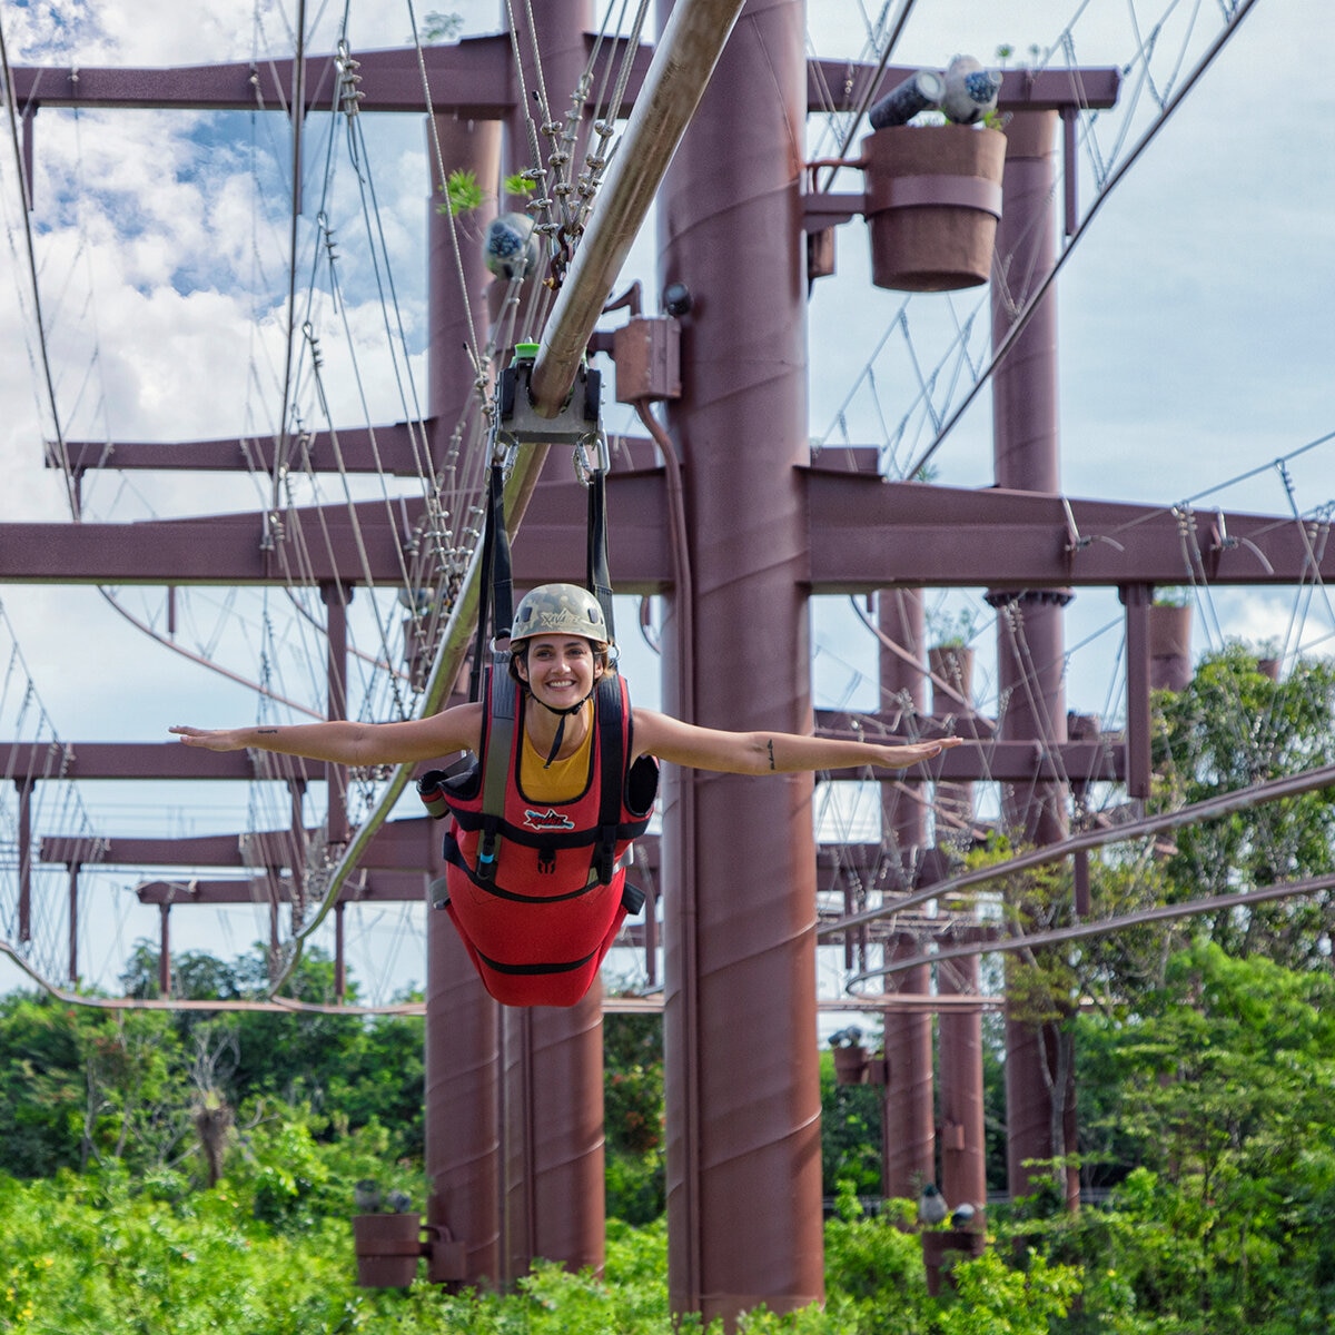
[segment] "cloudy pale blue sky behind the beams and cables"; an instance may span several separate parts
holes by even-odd
[[[439,8],[461,13],[470,33],[499,27],[499,0]],[[917,0],[893,60],[940,68],[968,52],[995,63],[999,48],[1009,47],[1012,67],[1068,59],[1117,65],[1125,73],[1121,105],[1095,127],[1100,160],[1115,164],[1236,8],[1223,0]],[[861,57],[866,21],[897,11],[866,0],[812,0],[812,51]],[[0,0],[11,64],[65,68],[286,56],[295,47],[296,13],[295,0]],[[429,21],[427,9],[410,11],[402,0],[308,3],[306,13],[312,51],[332,49],[344,15],[354,51],[399,45],[414,21]],[[1335,431],[1328,347],[1335,84],[1324,73],[1331,39],[1335,11],[1328,5],[1255,0],[1072,251],[1059,284],[1063,485],[1069,494],[1165,506],[1192,498],[1206,507],[1276,514],[1295,506],[1316,511],[1331,501],[1331,446],[1314,445]],[[1153,52],[1148,64],[1147,47]],[[354,244],[343,247],[347,286],[340,302],[326,302],[312,316],[328,332],[335,415],[387,421],[411,410],[405,372],[411,382],[422,370],[425,144],[418,117],[363,120],[380,260],[395,278],[406,351],[384,352],[375,272]],[[29,223],[67,438],[170,441],[272,430],[288,247],[284,124],[278,116],[39,113]],[[312,124],[308,163],[323,162],[326,135],[327,125]],[[52,409],[8,138],[0,150],[7,234],[0,318],[9,331],[9,355],[0,359],[0,518],[60,519],[68,502],[59,475],[40,467]],[[1097,194],[1095,158],[1084,155],[1079,171],[1084,211]],[[307,196],[319,199],[316,212],[339,219],[343,235],[355,230],[352,174],[336,175],[327,196],[318,190],[311,168]],[[307,247],[314,226],[308,206]],[[937,331],[967,320],[983,298],[916,298],[908,322],[921,342],[910,350],[893,335],[885,339],[901,318],[902,296],[868,286],[861,226],[841,231],[840,276],[817,284],[812,302],[810,434],[837,438],[830,433],[842,410],[852,438],[880,443],[885,419],[905,413],[905,386],[914,383],[910,354],[924,364],[948,356],[949,344]],[[643,278],[650,292],[657,290],[651,256],[646,238],[626,275]],[[852,322],[849,292],[856,294]],[[355,360],[348,348],[356,348]],[[920,422],[908,437],[929,439]],[[991,450],[984,394],[933,455],[939,479],[988,485]],[[914,453],[916,446],[906,450]],[[1287,481],[1275,466],[1279,459],[1290,461]],[[248,481],[210,479],[206,490],[179,478],[108,473],[89,482],[85,513],[132,519],[262,503],[262,489]],[[182,718],[223,724],[254,717],[244,689],[147,642],[95,590],[0,589],[0,649],[31,676],[53,736],[158,740]],[[943,610],[973,605],[975,595],[961,594]],[[162,610],[138,597],[134,606],[147,619]],[[255,617],[262,614],[242,615],[222,591],[195,598],[192,642],[232,654],[238,666],[254,663],[260,642]],[[822,605],[814,618],[818,702],[870,708],[870,643],[841,605]],[[1197,647],[1222,633],[1328,647],[1331,630],[1323,591],[1303,599],[1224,593],[1197,618]],[[1116,714],[1119,639],[1115,598],[1076,599],[1068,623],[1072,708]],[[286,649],[300,659],[311,643],[294,629]],[[89,674],[92,645],[96,672]],[[980,647],[985,655],[985,637]],[[627,654],[633,668],[639,653]],[[637,680],[650,672],[647,654],[642,661]],[[318,698],[314,681],[310,690]],[[985,693],[984,663],[983,708]],[[13,706],[4,717],[7,732],[27,726]],[[135,828],[146,817],[134,794],[89,792],[87,801],[117,833],[148,832]],[[215,801],[223,798],[182,794],[170,820],[179,832],[200,829]],[[134,936],[142,928],[119,930]],[[236,932],[228,948],[242,951],[250,936],[244,926]],[[383,932],[398,943],[386,949],[409,949],[402,924],[388,922]]]

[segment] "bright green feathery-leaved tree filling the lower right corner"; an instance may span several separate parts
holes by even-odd
[[[1335,1300],[1332,1001],[1328,975],[1203,937],[1135,1012],[1081,1017],[1101,1117],[1136,1167],[1111,1214],[1075,1227],[1137,1306],[1210,1312],[1214,1332],[1326,1328],[1303,1314],[1326,1322]]]

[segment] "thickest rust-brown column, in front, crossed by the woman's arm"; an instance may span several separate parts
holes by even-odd
[[[800,0],[746,5],[659,200],[661,278],[694,300],[669,409],[694,597],[665,619],[665,700],[708,726],[813,728],[804,44]],[[824,1295],[812,792],[669,776],[668,1278],[706,1322]]]

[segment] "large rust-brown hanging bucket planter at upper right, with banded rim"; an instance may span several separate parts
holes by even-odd
[[[977,287],[992,272],[1005,135],[894,125],[862,140],[872,282],[902,292]]]

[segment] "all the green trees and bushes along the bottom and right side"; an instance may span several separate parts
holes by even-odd
[[[1230,647],[1156,701],[1152,809],[1335,757],[1335,672],[1283,682]],[[999,840],[979,857],[1005,857]],[[1335,798],[1314,792],[1092,860],[1095,912],[1335,870]],[[1004,886],[1060,926],[1071,873]],[[1007,987],[1076,1064],[1095,1204],[1039,1189],[988,1211],[991,1246],[926,1292],[908,1202],[880,1192],[881,1091],[822,1057],[828,1299],[742,1330],[793,1335],[1324,1335],[1335,1330],[1335,975],[1323,893],[1145,924],[1008,964]],[[1000,972],[1000,971],[999,971]],[[136,955],[132,996],[156,995]],[[263,956],[183,955],[174,992],[244,1000]],[[298,995],[332,996],[308,955]],[[991,984],[999,985],[999,980]],[[354,989],[355,996],[355,989]],[[0,999],[0,1332],[45,1335],[669,1335],[662,1027],[605,1024],[607,1266],[538,1263],[510,1294],[355,1283],[354,1184],[423,1200],[422,1021],[125,1012]],[[985,1020],[989,1181],[1004,1184],[1004,1041]],[[1061,1165],[1053,1164],[1055,1168]]]

